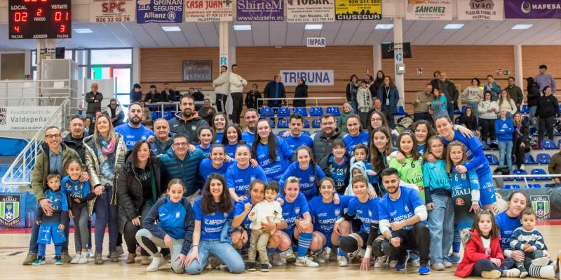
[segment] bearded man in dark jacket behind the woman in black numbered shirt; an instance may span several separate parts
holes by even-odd
[[[319,162],[323,155],[328,155],[332,152],[334,139],[342,139],[341,131],[337,128],[333,115],[328,113],[323,115],[321,117],[320,128],[321,132],[312,135],[313,160],[315,162]]]

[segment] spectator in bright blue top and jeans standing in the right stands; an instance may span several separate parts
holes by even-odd
[[[513,132],[513,120],[506,118],[506,109],[499,109],[499,118],[495,121],[496,138],[499,140],[499,168],[505,167],[506,158],[506,166],[510,172],[513,171]]]

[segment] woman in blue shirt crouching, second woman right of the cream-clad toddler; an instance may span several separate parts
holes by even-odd
[[[310,249],[316,252],[319,263],[325,263],[331,248],[339,247],[339,241],[351,233],[351,223],[342,221],[336,224],[335,221],[343,216],[352,197],[339,196],[339,204],[335,204],[334,190],[333,179],[325,177],[320,180],[320,195],[308,203],[314,228]],[[344,253],[339,249],[337,255],[342,257]]]

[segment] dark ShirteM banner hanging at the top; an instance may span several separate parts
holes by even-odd
[[[282,22],[284,0],[238,0],[236,15],[241,22]]]

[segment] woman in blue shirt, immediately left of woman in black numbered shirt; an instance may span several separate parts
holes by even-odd
[[[298,162],[292,162],[283,176],[280,176],[278,184],[282,188],[288,177],[295,176],[300,180],[300,193],[306,196],[306,200],[311,200],[318,195],[317,184],[325,174],[316,162],[313,162],[311,148],[308,146],[299,146],[296,150],[296,158]]]

